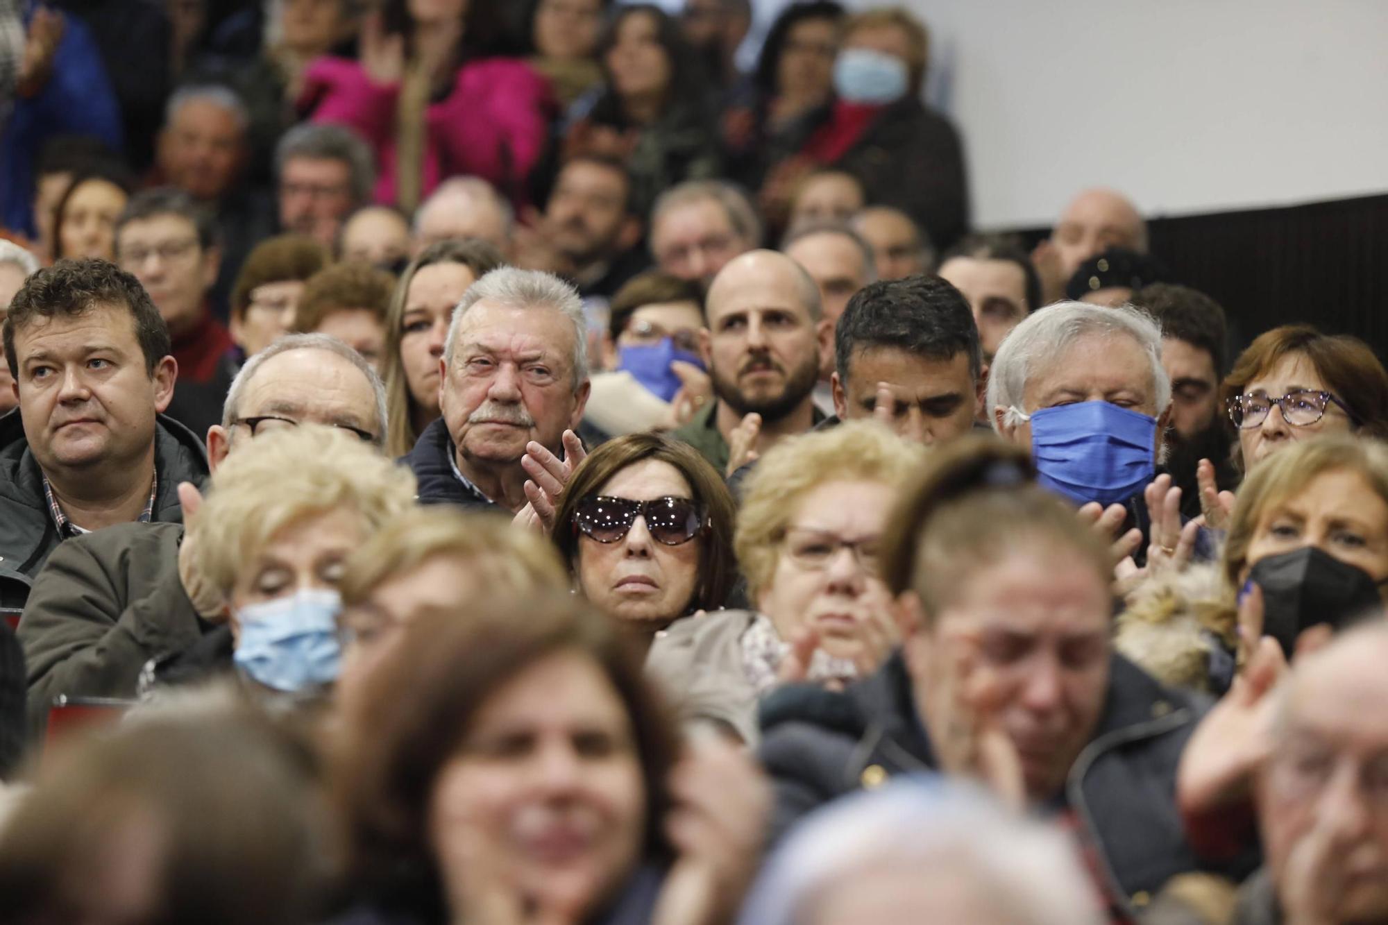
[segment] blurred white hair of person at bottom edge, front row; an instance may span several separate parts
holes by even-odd
[[[873,872],[963,875],[1017,925],[1098,925],[1094,890],[1059,829],[1008,812],[981,792],[904,778],[837,800],[772,856],[740,925],[802,925],[836,889]],[[923,910],[915,910],[917,914]]]

